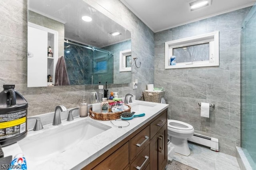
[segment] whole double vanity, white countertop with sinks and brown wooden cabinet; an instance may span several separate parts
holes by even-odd
[[[4,155],[24,153],[28,170],[33,169],[159,169],[167,165],[167,108],[134,100],[131,111],[145,113],[128,121],[99,121],[76,116],[52,125],[54,113],[38,115],[44,129],[3,147]],[[32,122],[31,122],[32,123]],[[118,126],[122,126],[119,128]]]

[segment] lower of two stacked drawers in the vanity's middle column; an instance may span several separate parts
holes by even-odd
[[[131,170],[144,170],[149,162],[149,144],[138,154],[131,164]]]

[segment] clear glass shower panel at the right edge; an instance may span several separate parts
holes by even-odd
[[[253,170],[256,169],[255,4],[242,23],[241,33],[241,148],[242,155],[246,157],[246,165],[249,164],[249,167],[251,167]],[[244,163],[244,161],[242,162]]]

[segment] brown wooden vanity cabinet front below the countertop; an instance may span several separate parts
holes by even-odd
[[[83,170],[163,170],[167,158],[167,109]]]

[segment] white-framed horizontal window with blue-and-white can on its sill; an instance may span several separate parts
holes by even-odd
[[[165,69],[206,66],[219,66],[219,31],[165,42]]]

